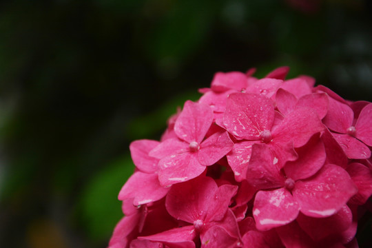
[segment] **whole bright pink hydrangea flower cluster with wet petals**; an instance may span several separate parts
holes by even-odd
[[[131,143],[109,247],[358,247],[372,103],[288,71],[218,72],[161,141]]]

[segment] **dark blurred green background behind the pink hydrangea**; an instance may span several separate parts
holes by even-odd
[[[130,142],[215,72],[282,65],[372,101],[372,1],[1,1],[0,247],[105,247]]]

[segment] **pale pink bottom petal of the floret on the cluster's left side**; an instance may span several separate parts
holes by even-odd
[[[200,165],[197,153],[185,152],[161,159],[158,175],[161,185],[169,186],[196,178],[204,171],[205,166]]]

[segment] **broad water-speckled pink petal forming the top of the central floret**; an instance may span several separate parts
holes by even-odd
[[[273,125],[273,102],[258,94],[234,93],[227,100],[223,125],[240,138],[258,139]]]

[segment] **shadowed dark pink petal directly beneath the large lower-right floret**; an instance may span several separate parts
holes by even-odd
[[[313,240],[318,241],[349,229],[352,219],[351,210],[344,205],[337,213],[325,218],[313,218],[299,214],[297,222]]]

